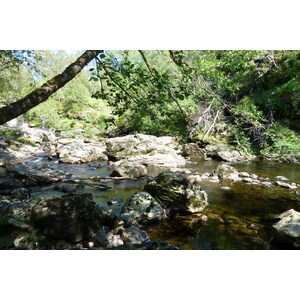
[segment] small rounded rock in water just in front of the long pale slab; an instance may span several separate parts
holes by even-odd
[[[146,176],[147,173],[147,168],[142,164],[135,162],[122,162],[114,168],[110,176],[138,178]]]

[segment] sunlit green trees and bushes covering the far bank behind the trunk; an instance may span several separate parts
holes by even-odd
[[[80,53],[0,51],[0,105]],[[65,135],[139,132],[300,158],[300,51],[105,51],[23,118]]]

